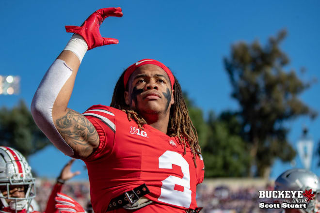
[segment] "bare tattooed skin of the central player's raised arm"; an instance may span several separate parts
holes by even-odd
[[[80,113],[67,108],[77,71],[80,66],[78,57],[71,51],[63,51],[58,59],[66,62],[72,69],[72,75],[59,92],[53,108],[53,122],[74,152],[74,158],[86,158],[99,145],[99,136],[95,127]]]

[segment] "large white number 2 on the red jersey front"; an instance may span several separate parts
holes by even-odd
[[[181,154],[172,151],[166,151],[159,157],[159,168],[172,169],[175,164],[181,167],[183,178],[170,175],[162,181],[161,195],[159,201],[189,208],[191,204],[191,190],[190,190],[190,172],[189,164],[182,157]],[[175,190],[175,184],[183,186],[184,190]]]

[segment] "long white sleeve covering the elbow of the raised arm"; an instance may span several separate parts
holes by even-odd
[[[69,68],[63,60],[57,59],[54,61],[43,77],[31,103],[31,113],[34,122],[53,145],[68,156],[72,156],[74,152],[64,141],[64,138],[61,137],[54,125],[52,107],[59,92],[71,74],[72,69]]]

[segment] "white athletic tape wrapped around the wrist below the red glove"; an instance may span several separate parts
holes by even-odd
[[[81,62],[84,57],[84,54],[88,50],[88,45],[81,35],[73,34],[68,44],[64,47],[64,50],[69,50],[76,54],[76,56]]]

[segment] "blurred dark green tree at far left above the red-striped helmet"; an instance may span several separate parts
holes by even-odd
[[[25,157],[51,144],[32,119],[29,107],[21,100],[12,109],[0,109],[0,145],[15,148]]]

